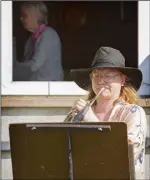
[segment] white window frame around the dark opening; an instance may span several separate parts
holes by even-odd
[[[150,54],[150,2],[139,1],[138,65]],[[1,94],[2,95],[85,95],[74,82],[12,81],[12,1],[1,2]]]

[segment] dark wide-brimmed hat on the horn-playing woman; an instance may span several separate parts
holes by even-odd
[[[127,82],[136,90],[142,82],[142,72],[138,68],[125,67],[125,58],[121,52],[111,47],[101,47],[97,50],[90,68],[72,69],[71,76],[75,83],[84,90],[91,84],[90,73],[97,68],[115,68],[127,76]]]

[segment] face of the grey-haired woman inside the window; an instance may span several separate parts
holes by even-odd
[[[34,32],[38,27],[38,14],[34,8],[22,8],[20,20],[25,29]]]

